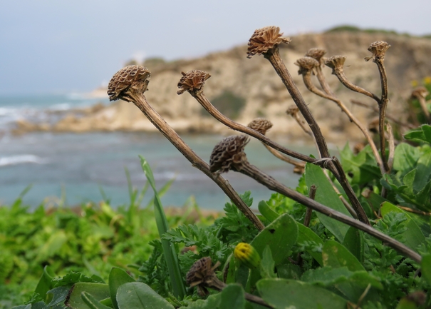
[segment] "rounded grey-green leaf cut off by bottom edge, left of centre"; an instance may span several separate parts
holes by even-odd
[[[117,303],[120,309],[174,309],[165,298],[142,282],[121,285],[117,291]]]

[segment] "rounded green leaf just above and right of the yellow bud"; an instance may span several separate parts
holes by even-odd
[[[289,214],[284,213],[269,226],[266,226],[251,241],[251,245],[261,256],[266,245],[269,245],[275,265],[279,265],[286,258],[297,238],[298,226],[296,221]]]

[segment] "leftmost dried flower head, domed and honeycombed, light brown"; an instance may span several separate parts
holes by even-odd
[[[110,78],[108,96],[110,101],[123,98],[130,86],[137,91],[145,92],[150,81],[151,72],[144,66],[125,66]],[[126,99],[126,101],[128,101]]]

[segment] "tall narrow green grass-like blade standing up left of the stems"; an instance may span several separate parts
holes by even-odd
[[[150,165],[143,156],[139,157],[142,171],[144,171],[147,181],[150,183],[150,186],[154,191],[155,221],[157,223],[157,230],[159,231],[160,238],[162,238],[162,235],[165,234],[169,229],[167,226],[165,211],[163,211],[162,202],[160,201],[160,197],[157,194],[157,189],[155,188],[155,180],[154,176],[152,175]],[[162,239],[162,248],[163,255],[165,255],[167,263],[167,269],[169,270],[174,295],[178,298],[183,298],[186,294],[186,291],[184,282],[182,280],[180,264],[178,263],[175,247],[169,241]]]

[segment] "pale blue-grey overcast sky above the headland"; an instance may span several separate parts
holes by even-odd
[[[431,34],[431,1],[14,0],[0,10],[0,94],[86,92],[129,59],[190,59],[349,24]],[[244,55],[245,56],[245,55]]]

